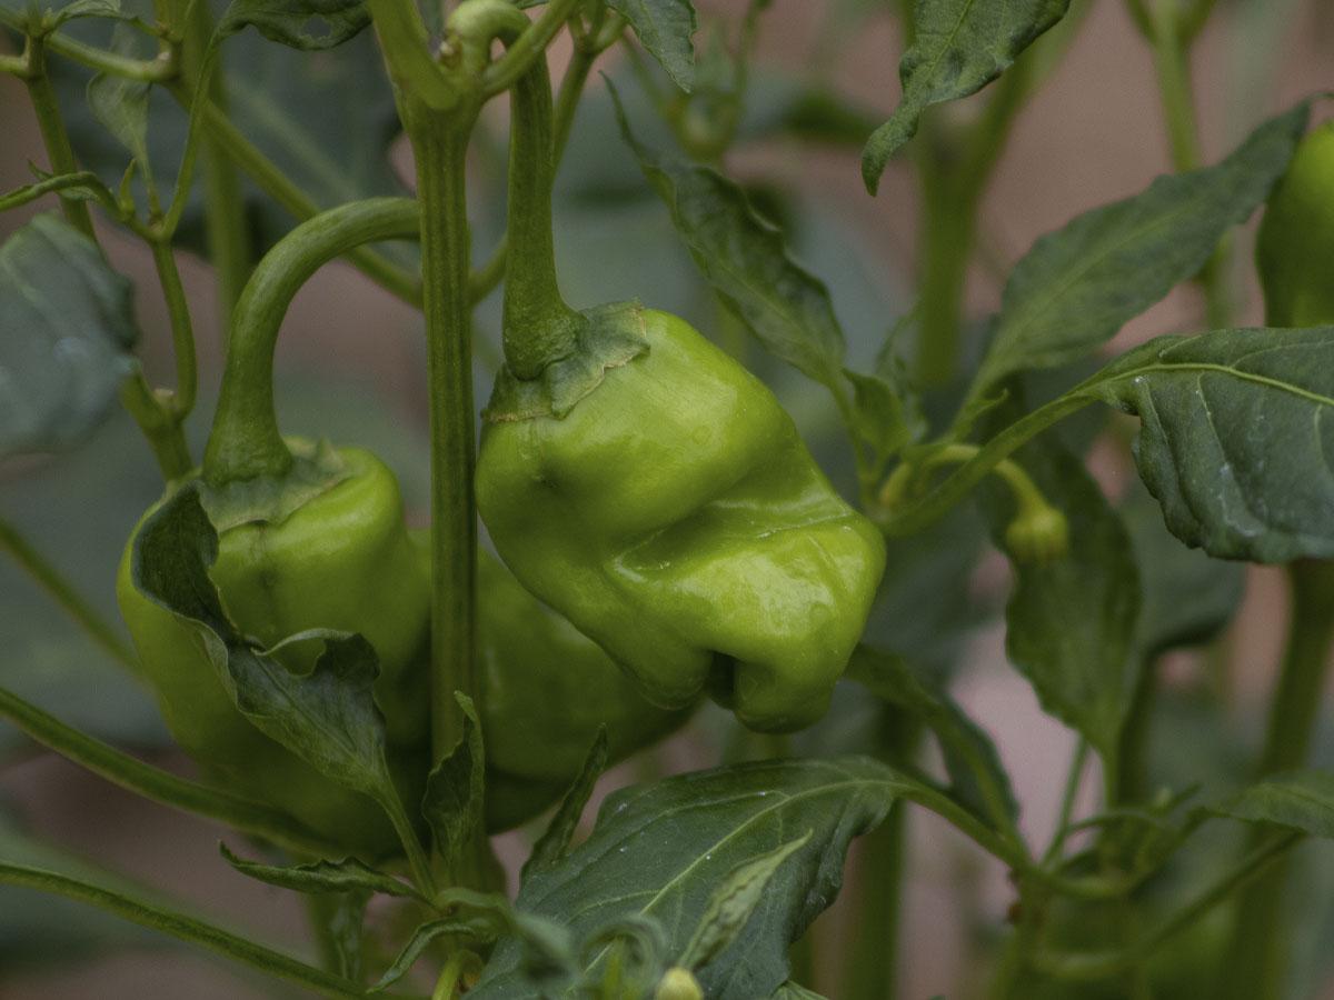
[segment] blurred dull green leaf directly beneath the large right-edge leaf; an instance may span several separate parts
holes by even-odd
[[[1143,607],[1135,629],[1141,657],[1199,645],[1217,636],[1241,604],[1246,569],[1178,541],[1141,484],[1119,508],[1139,564]]]

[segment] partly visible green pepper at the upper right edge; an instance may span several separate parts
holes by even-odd
[[[1255,241],[1271,327],[1334,323],[1334,121],[1298,144]]]

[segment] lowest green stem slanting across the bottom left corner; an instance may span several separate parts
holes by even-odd
[[[120,892],[100,885],[71,879],[67,875],[48,872],[23,864],[0,861],[0,884],[19,885],[37,892],[48,892],[65,899],[115,913],[132,924],[169,935],[189,944],[197,944],[223,957],[259,969],[269,976],[285,979],[305,989],[327,997],[364,997],[366,988],[360,983],[335,976],[313,965],[307,965],[289,955],[275,952],[261,944],[233,935],[220,927],[207,924],[185,913],[177,913],[165,907],[131,899]]]

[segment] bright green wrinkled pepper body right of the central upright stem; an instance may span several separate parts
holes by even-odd
[[[674,316],[615,316],[646,351],[563,416],[484,425],[496,549],[656,704],[707,688],[754,729],[808,725],[862,635],[883,539],[758,379]]]

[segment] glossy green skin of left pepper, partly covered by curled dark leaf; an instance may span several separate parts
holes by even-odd
[[[344,448],[338,455],[346,476],[284,520],[221,531],[209,573],[231,620],[263,647],[312,628],[370,640],[380,659],[375,697],[392,765],[427,737],[420,649],[430,576],[410,541],[394,473],[370,452]],[[197,632],[135,587],[132,543],[120,563],[116,597],[143,679],[181,748],[215,780],[285,809],[335,843],[394,851],[398,841],[379,807],[320,775],[236,709]],[[277,659],[304,672],[320,649],[319,641],[300,643]],[[403,768],[395,769],[403,772],[400,784],[412,784]]]

